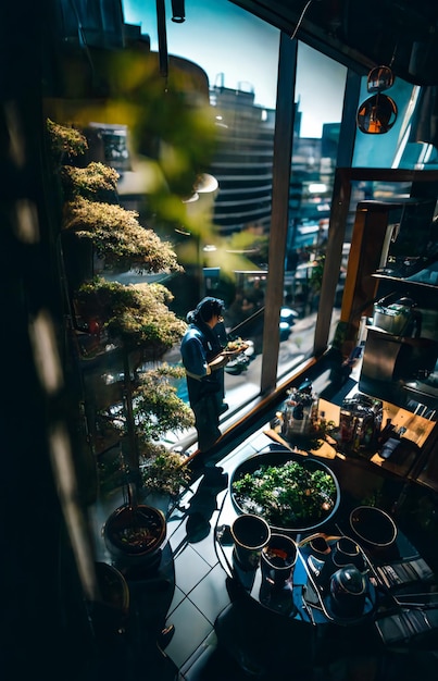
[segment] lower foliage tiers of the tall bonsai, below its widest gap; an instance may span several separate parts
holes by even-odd
[[[117,395],[120,407],[109,400],[97,414],[100,423],[110,425],[115,438],[127,437],[129,443],[127,465],[130,471],[141,468],[147,459],[155,466],[164,463],[164,473],[159,478],[151,475],[148,485],[148,466],[141,468],[145,484],[158,490],[158,480],[162,490],[176,493],[180,484],[187,481],[182,469],[182,458],[168,453],[163,445],[157,445],[160,437],[170,431],[184,430],[193,424],[191,409],[176,395],[173,379],[180,379],[180,367],[161,363],[142,371],[143,363],[153,364],[171,349],[182,337],[186,323],[168,310],[166,302],[172,300],[170,292],[161,284],[130,284],[108,282],[95,277],[86,282],[77,292],[77,300],[84,304],[89,313],[99,319],[100,333],[117,347],[122,354],[123,382],[118,382]],[[179,468],[175,466],[178,462]],[[179,470],[180,469],[180,470]]]

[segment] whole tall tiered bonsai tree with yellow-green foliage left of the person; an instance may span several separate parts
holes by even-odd
[[[162,284],[124,285],[105,280],[104,273],[135,269],[170,274],[182,268],[172,245],[118,205],[113,169],[75,164],[87,149],[86,137],[50,120],[47,128],[61,179],[62,264],[92,450],[101,450],[104,423],[111,442],[123,443],[136,483],[175,494],[187,472],[182,457],[160,438],[189,428],[193,417],[172,382],[182,369],[158,362],[180,340],[186,323],[168,309],[173,296]],[[84,350],[84,335],[93,338],[91,356]],[[89,363],[85,368],[88,359],[100,362],[98,371]],[[109,381],[109,375],[115,379]]]

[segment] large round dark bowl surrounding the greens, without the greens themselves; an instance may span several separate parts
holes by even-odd
[[[248,507],[248,505],[242,502],[241,496],[239,496],[236,493],[235,487],[234,487],[235,482],[240,480],[246,473],[249,473],[250,475],[252,475],[253,473],[255,473],[255,471],[258,471],[263,466],[272,466],[272,467],[277,468],[277,467],[285,466],[285,463],[289,461],[299,463],[300,467],[302,467],[309,473],[313,473],[314,471],[321,471],[321,472],[326,473],[331,479],[333,487],[335,491],[334,495],[330,498],[329,507],[327,509],[321,508],[321,510],[318,511],[318,517],[315,517],[315,515],[310,513],[308,521],[305,520],[305,517],[291,520],[291,517],[293,516],[293,509],[286,508],[285,509],[286,512],[280,513],[280,517],[278,517],[277,520],[272,521],[270,518],[271,512],[268,510],[265,511],[263,507],[261,507],[260,505],[256,505],[256,504],[252,505],[251,500],[250,500],[251,507]],[[314,532],[333,519],[333,517],[338,510],[339,503],[340,503],[339,483],[335,473],[328,468],[328,466],[314,457],[293,454],[289,451],[288,449],[263,450],[263,451],[258,453],[254,456],[249,457],[245,461],[242,461],[242,463],[240,463],[236,468],[233,475],[230,476],[229,493],[233,499],[233,504],[239,513],[252,512],[256,516],[260,516],[268,522],[273,531],[277,531],[277,532],[292,532],[292,533]],[[310,502],[309,506],[311,506],[311,499],[313,499],[314,502],[314,498],[315,498],[314,495],[315,493],[309,492],[309,495],[308,495],[309,502]],[[300,505],[301,513],[302,513],[302,508],[303,508],[302,505],[303,504],[305,505],[306,498],[308,497],[304,494],[302,498],[302,503]],[[322,499],[322,503],[323,503],[323,499]],[[281,521],[281,517],[285,518],[284,522]],[[286,518],[288,519],[286,520]]]

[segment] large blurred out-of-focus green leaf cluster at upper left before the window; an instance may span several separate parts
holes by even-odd
[[[185,72],[174,63],[164,88],[155,59],[145,53],[138,59],[128,51],[111,55],[107,67],[117,104],[126,108],[129,103],[125,119],[130,116],[133,145],[140,154],[157,158],[167,196],[168,190],[189,196],[197,174],[209,168],[216,143],[205,74]],[[166,201],[160,193],[150,198],[163,218]]]

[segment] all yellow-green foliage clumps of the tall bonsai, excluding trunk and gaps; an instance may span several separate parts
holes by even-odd
[[[160,117],[157,111],[153,115]],[[87,140],[78,131],[52,121],[48,121],[47,127],[57,168],[62,160],[71,161],[87,149]],[[179,141],[182,148],[188,146],[185,134]],[[176,174],[179,186],[183,177],[184,182],[190,177],[190,168],[180,168]],[[76,168],[65,162],[60,172],[64,190],[62,228],[78,239],[88,239],[95,253],[103,259],[104,268],[113,272],[135,269],[170,274],[182,271],[172,245],[143,227],[137,212],[118,205],[117,179],[117,173],[102,163]],[[167,198],[172,198],[168,193]],[[180,201],[179,206],[183,206]],[[75,307],[84,318],[95,318],[102,336],[122,347],[127,362],[133,350],[137,355],[139,350],[143,361],[145,356],[159,360],[180,340],[187,327],[186,322],[168,309],[173,295],[161,284],[123,285],[96,277],[83,282],[74,296]],[[182,369],[165,363],[136,373],[134,379],[124,375],[130,408],[117,401],[97,413],[97,421],[104,419],[121,438],[128,436],[130,444],[134,434],[135,444],[127,457],[129,466],[138,467],[140,456],[143,484],[148,490],[170,494],[178,493],[182,485],[187,484],[189,472],[180,455],[157,443],[170,431],[193,425],[191,409],[177,396],[172,383],[182,375]],[[109,388],[110,385],[105,386]],[[97,409],[96,396],[88,394],[86,399]]]

